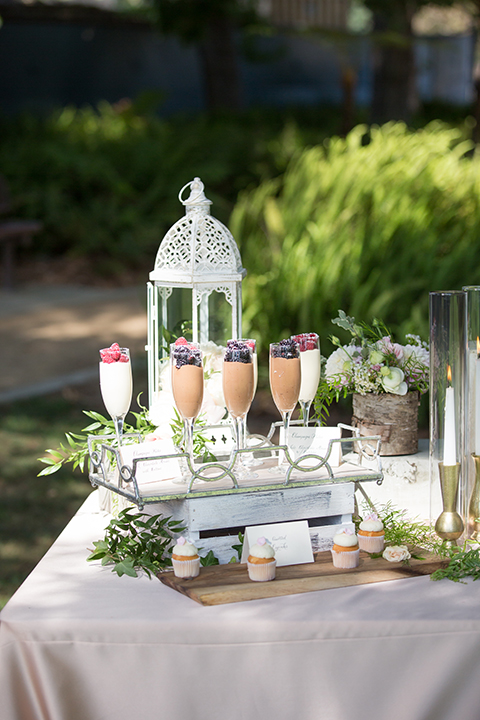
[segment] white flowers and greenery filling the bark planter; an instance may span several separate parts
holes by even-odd
[[[418,335],[406,335],[407,343],[393,342],[385,325],[374,320],[372,326],[357,324],[343,310],[332,321],[348,330],[352,340],[341,345],[327,359],[325,380],[335,392],[392,393],[406,395],[409,390],[421,394],[428,390],[430,357],[428,345]]]

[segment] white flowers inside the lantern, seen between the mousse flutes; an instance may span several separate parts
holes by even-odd
[[[217,425],[227,415],[223,397],[222,365],[225,348],[214,342],[200,345],[203,354],[204,389],[203,404],[198,421],[205,425]],[[160,361],[159,389],[148,411],[148,419],[156,430],[149,440],[170,439],[177,424],[175,401],[172,392],[170,358]]]

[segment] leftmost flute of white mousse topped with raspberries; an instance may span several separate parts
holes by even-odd
[[[118,446],[121,445],[123,422],[132,402],[132,364],[130,350],[113,343],[100,350],[100,391],[115,425]]]

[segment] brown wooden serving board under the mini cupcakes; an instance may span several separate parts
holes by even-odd
[[[415,548],[411,552],[424,559],[411,558],[407,565],[391,563],[382,557],[372,558],[368,553],[360,551],[359,566],[351,570],[333,567],[330,551],[318,552],[314,555],[313,563],[277,568],[275,580],[269,582],[252,582],[248,577],[247,566],[239,563],[200,568],[198,577],[189,580],[177,578],[173,572],[159,573],[158,577],[164,585],[187,595],[201,605],[223,605],[430,575],[434,570],[448,564],[448,559],[425,550]]]

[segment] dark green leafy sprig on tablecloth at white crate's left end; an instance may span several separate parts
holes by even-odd
[[[93,543],[95,549],[87,560],[113,565],[112,572],[119,577],[137,577],[140,570],[151,577],[172,565],[170,549],[174,535],[184,530],[179,520],[135,513],[127,508],[110,521],[104,539]]]

